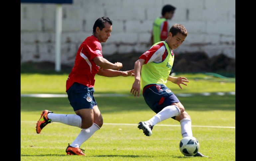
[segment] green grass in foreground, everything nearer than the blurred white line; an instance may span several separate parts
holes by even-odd
[[[154,115],[142,98],[97,97],[96,100],[107,123],[138,123]],[[235,96],[205,96],[204,101],[198,97],[180,98],[192,117],[192,125],[212,126],[235,126],[234,100]],[[51,123],[40,134],[36,133],[35,124],[43,109],[73,114],[67,98],[21,98],[21,160],[84,160],[66,156],[64,152],[79,128]],[[160,124],[179,122],[168,119]],[[235,129],[192,127],[192,130],[200,143],[200,152],[211,160],[235,160]],[[179,151],[181,138],[180,127],[155,126],[153,135],[146,137],[136,126],[103,125],[81,148],[86,151],[86,160],[207,160],[184,157]]]

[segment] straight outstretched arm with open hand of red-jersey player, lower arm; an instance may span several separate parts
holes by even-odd
[[[99,69],[98,75],[104,76],[104,77],[128,77],[128,76],[134,76],[134,70],[128,70],[128,71],[117,71],[112,69]]]

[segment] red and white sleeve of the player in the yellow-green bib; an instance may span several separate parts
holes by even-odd
[[[148,51],[144,52],[139,57],[139,59],[144,59],[145,60],[144,64],[147,64],[148,62],[152,62],[152,61],[162,59],[163,52],[162,52],[161,47],[163,45],[164,45],[164,43],[159,43],[158,45],[155,45],[155,46],[151,47]]]

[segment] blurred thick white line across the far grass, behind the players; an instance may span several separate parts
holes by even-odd
[[[218,95],[218,96],[224,96],[224,95],[235,95],[235,92],[203,92],[203,93],[177,93],[175,94],[178,97],[191,97],[191,96],[211,96],[211,95]],[[67,97],[67,94],[21,94],[21,97],[37,97],[37,98],[63,98]],[[127,94],[93,94],[94,97],[128,97],[132,95]]]

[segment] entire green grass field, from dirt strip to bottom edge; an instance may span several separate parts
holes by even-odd
[[[183,90],[169,83],[174,93],[230,92],[235,82],[209,78],[203,74],[183,74],[190,82]],[[66,74],[21,74],[21,94],[65,93]],[[113,83],[114,82],[114,83]],[[132,77],[106,78],[96,76],[96,93],[129,94]],[[179,97],[192,118],[192,125],[235,126],[235,96]],[[150,119],[154,112],[143,97],[96,97],[105,123],[131,123]],[[41,111],[74,114],[67,98],[21,97],[21,160],[235,160],[235,128],[192,127],[200,143],[199,151],[210,158],[185,157],[179,150],[182,138],[179,126],[154,126],[147,137],[136,125],[109,125],[81,145],[84,156],[67,156],[65,148],[80,129],[61,123],[47,125],[40,134],[35,125]],[[179,125],[168,119],[159,124]]]

